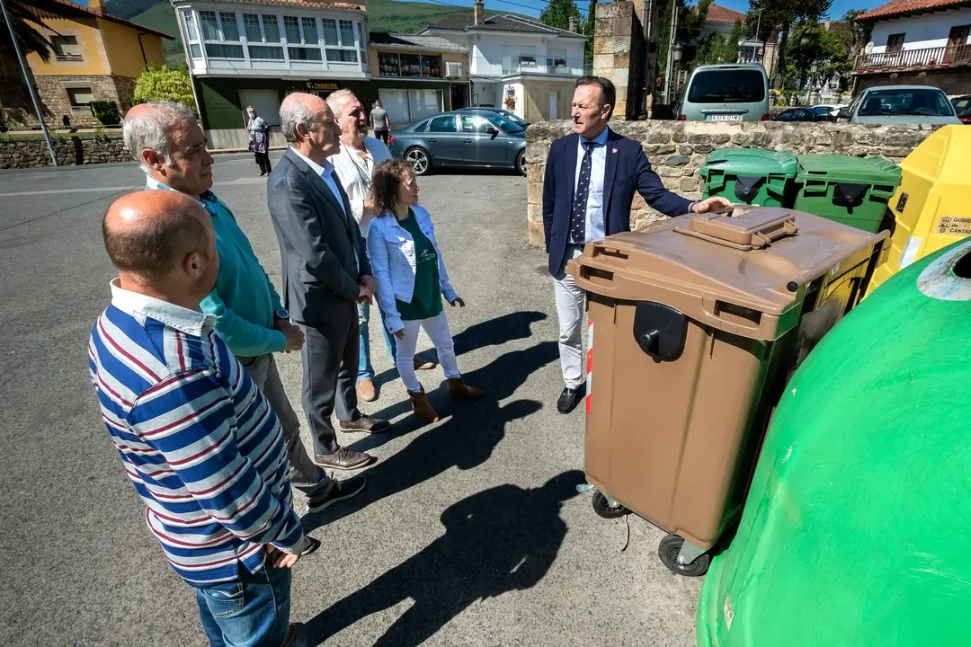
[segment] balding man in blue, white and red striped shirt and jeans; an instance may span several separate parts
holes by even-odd
[[[199,303],[219,270],[198,201],[119,198],[105,214],[118,276],[88,342],[102,418],[212,645],[289,644],[289,567],[319,545],[292,509],[280,421]]]

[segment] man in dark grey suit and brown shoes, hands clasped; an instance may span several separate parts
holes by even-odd
[[[340,150],[340,129],[323,99],[294,93],[280,106],[290,147],[270,174],[267,204],[284,264],[284,307],[303,329],[303,405],[314,435],[314,462],[357,469],[373,462],[337,443],[343,432],[379,434],[385,420],[357,409],[357,308],[371,303],[377,281],[348,196],[327,157]]]

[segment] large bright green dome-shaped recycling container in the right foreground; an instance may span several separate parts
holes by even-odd
[[[965,239],[822,338],[702,585],[699,646],[971,644],[969,327]]]

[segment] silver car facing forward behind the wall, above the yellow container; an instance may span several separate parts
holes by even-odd
[[[868,88],[839,117],[853,123],[961,123],[947,95],[930,85]]]

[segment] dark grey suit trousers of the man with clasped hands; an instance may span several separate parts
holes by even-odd
[[[341,304],[334,307],[331,316],[331,321],[300,323],[304,333],[304,413],[317,454],[333,454],[340,449],[330,422],[335,408],[338,420],[350,422],[358,416],[357,307]]]

